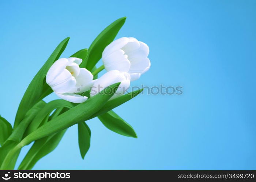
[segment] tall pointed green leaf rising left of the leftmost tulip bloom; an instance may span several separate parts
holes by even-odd
[[[52,66],[53,62],[59,59],[62,52],[65,50],[68,44],[69,37],[61,41],[61,43],[56,47],[53,51],[52,55],[50,55],[49,59],[46,61],[44,66],[37,72],[33,80],[30,82],[29,87],[27,88],[16,114],[14,128],[18,126],[20,121],[24,118],[27,111],[34,106],[34,104],[38,103],[41,100],[41,96],[43,95],[44,88],[48,88],[44,86],[45,76]]]

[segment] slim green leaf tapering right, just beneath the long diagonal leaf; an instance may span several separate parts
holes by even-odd
[[[93,115],[91,115],[87,120],[97,117],[98,115],[105,114],[106,112],[112,110],[113,108],[116,108],[117,106],[120,106],[121,104],[127,102],[128,100],[131,100],[140,92],[143,91],[143,88],[140,90],[136,90],[133,92],[130,92],[128,94],[122,95],[120,97],[117,97],[113,100],[109,100],[99,111],[95,112]]]

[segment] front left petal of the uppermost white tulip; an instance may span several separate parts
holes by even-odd
[[[115,51],[106,58],[102,58],[102,62],[106,71],[119,70],[128,72],[131,66],[131,63],[127,59],[127,55],[124,55],[123,50]]]

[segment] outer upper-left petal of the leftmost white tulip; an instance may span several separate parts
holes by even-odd
[[[51,82],[53,82],[53,80],[56,79],[56,77],[59,76],[63,70],[65,70],[67,64],[68,59],[66,58],[61,58],[54,62],[46,74],[46,83],[51,84]]]

